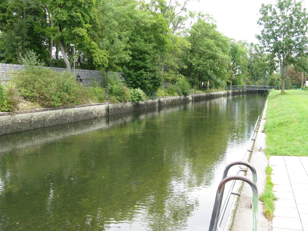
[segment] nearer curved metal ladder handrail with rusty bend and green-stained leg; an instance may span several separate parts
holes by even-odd
[[[215,204],[213,207],[213,213],[211,218],[211,223],[209,226],[209,231],[216,231],[221,230],[218,225],[218,216],[220,214],[220,207],[222,202],[222,196],[223,196],[223,190],[224,185],[230,181],[230,180],[242,180],[246,183],[248,183],[253,191],[253,231],[257,231],[257,224],[258,224],[258,189],[257,186],[253,183],[252,180],[250,180],[246,176],[240,176],[240,175],[233,175],[233,176],[227,176],[218,185],[216,198],[215,198]]]

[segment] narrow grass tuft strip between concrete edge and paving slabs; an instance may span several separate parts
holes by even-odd
[[[272,182],[271,178],[272,170],[273,169],[269,165],[266,167],[265,191],[259,197],[260,200],[263,201],[264,214],[269,220],[273,218],[274,201],[277,200],[277,197],[273,193],[274,183]]]

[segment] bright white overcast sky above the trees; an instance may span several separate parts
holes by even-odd
[[[209,13],[216,20],[217,30],[229,38],[258,43],[255,38],[260,28],[257,20],[260,17],[261,4],[275,4],[275,0],[200,0],[190,2],[188,10]],[[308,0],[302,1],[307,8]]]

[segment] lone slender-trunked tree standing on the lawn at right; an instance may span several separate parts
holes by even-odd
[[[276,4],[262,4],[258,24],[263,26],[257,35],[260,43],[279,60],[282,75],[281,93],[285,90],[290,59],[300,55],[307,48],[306,9],[295,0],[277,0]]]

